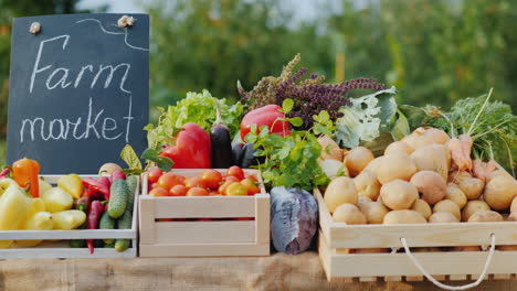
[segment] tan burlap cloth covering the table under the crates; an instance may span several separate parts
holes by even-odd
[[[453,282],[460,284],[465,282]],[[0,260],[0,290],[436,290],[430,282],[327,282],[316,252],[263,258]],[[517,290],[485,281],[473,290]]]

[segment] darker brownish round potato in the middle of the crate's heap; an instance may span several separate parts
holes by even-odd
[[[434,205],[445,197],[447,184],[436,172],[426,170],[420,171],[411,177],[410,183],[422,193],[422,200],[430,205]]]

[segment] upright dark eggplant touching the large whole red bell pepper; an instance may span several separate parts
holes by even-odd
[[[232,139],[230,137],[230,129],[222,120],[219,104],[215,104],[215,109],[218,118],[210,128],[210,143],[212,148],[210,164],[212,169],[228,169],[234,164]]]

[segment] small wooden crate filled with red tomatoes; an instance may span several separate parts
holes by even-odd
[[[201,171],[173,170],[183,176]],[[140,257],[270,256],[270,194],[265,192],[260,171],[244,172],[258,179],[261,194],[154,197],[147,195],[147,174],[144,173],[139,198]],[[226,219],[239,217],[253,217],[253,220]],[[161,218],[215,220],[157,220]]]

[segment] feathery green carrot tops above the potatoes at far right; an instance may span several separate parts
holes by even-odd
[[[474,158],[494,159],[513,171],[517,160],[517,116],[508,105],[489,101],[490,96],[492,90],[488,95],[461,99],[449,112],[428,106],[424,120],[451,137],[471,136]]]

